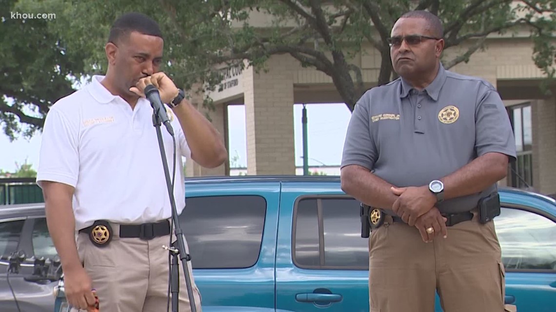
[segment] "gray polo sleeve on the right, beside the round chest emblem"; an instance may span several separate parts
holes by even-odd
[[[475,151],[477,156],[490,152],[516,159],[515,138],[510,118],[498,92],[486,90],[475,109]]]

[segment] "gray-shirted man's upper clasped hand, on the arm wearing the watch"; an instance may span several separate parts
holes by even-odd
[[[392,205],[392,210],[411,227],[415,225],[417,218],[432,209],[436,203],[436,197],[428,187],[392,187],[391,190],[399,196]]]

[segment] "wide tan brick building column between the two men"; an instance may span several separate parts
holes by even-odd
[[[294,59],[272,56],[244,72],[247,174],[295,174]]]

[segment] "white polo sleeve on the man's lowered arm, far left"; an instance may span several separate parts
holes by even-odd
[[[79,175],[78,127],[52,107],[44,120],[37,183],[52,181],[76,187]]]

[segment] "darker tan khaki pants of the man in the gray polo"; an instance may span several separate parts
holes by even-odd
[[[478,215],[425,243],[415,227],[392,222],[369,238],[370,312],[503,312],[505,271],[494,223]]]

